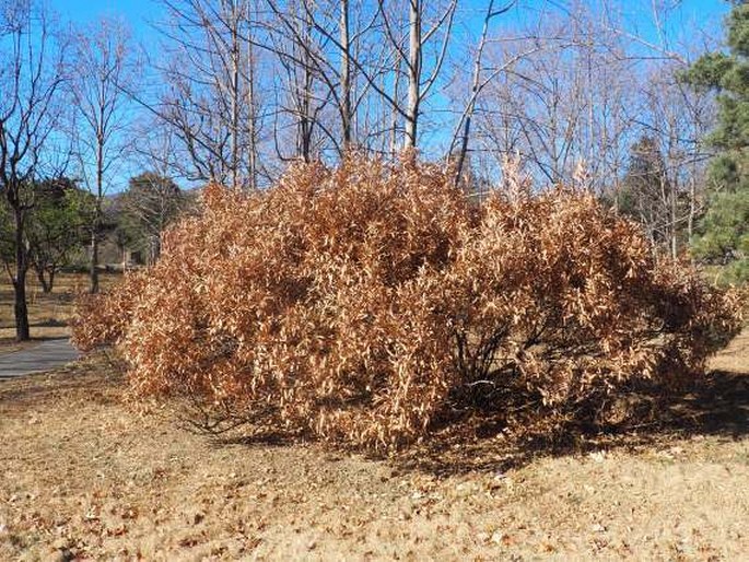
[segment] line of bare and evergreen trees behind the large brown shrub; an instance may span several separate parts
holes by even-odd
[[[155,259],[185,207],[178,184],[258,189],[349,151],[419,150],[479,198],[519,156],[641,222],[662,254],[692,246],[746,277],[744,2],[725,45],[678,2],[157,3],[144,46],[115,17],[73,26],[42,2],[1,4],[2,253],[20,339],[30,270],[51,286],[85,246],[95,292],[106,236]],[[56,223],[72,249],[38,249]]]

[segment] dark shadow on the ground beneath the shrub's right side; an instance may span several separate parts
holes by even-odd
[[[749,435],[749,374],[713,371],[682,393],[667,397],[660,389],[641,390],[636,399],[649,410],[641,420],[595,428],[570,425],[553,437],[514,440],[502,432],[500,421],[484,419],[468,431],[413,447],[399,455],[396,463],[403,470],[436,476],[504,472],[539,457],[668,446],[695,435],[726,440]]]

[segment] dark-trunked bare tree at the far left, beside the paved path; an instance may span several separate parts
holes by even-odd
[[[0,13],[0,190],[13,219],[15,337],[30,339],[26,305],[28,253],[24,229],[34,206],[34,182],[49,174],[61,106],[65,45],[52,36],[49,15],[36,3],[10,2]],[[59,172],[59,171],[58,171]],[[52,174],[50,174],[52,175]]]

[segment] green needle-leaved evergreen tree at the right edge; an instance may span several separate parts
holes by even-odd
[[[727,52],[701,57],[687,82],[717,92],[717,149],[707,211],[692,241],[694,254],[724,264],[730,279],[749,280],[749,3],[736,2],[726,20]]]

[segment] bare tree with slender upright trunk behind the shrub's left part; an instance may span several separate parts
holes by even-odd
[[[257,92],[258,11],[251,0],[162,0],[166,50],[157,99],[133,96],[172,128],[189,179],[255,188],[262,119]]]

